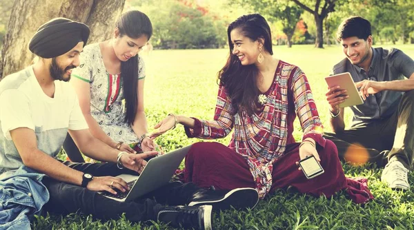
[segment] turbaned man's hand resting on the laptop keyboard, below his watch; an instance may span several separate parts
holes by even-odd
[[[123,192],[130,189],[125,180],[113,176],[94,176],[93,180],[88,182],[86,188],[90,191],[108,191],[111,194],[117,194],[113,188]]]

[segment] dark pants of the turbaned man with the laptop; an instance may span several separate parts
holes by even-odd
[[[93,176],[137,174],[129,169],[118,169],[115,163],[64,162],[64,164]],[[193,183],[170,182],[132,202],[117,202],[101,196],[96,191],[52,178],[45,177],[43,183],[50,193],[50,200],[45,205],[46,211],[63,215],[81,211],[81,213],[92,214],[94,218],[101,220],[118,219],[122,213],[126,213],[126,218],[132,222],[156,220],[157,213],[163,205],[186,205],[190,202],[190,197],[198,190]]]

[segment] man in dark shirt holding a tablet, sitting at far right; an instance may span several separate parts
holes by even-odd
[[[348,94],[331,87],[326,93],[334,133],[325,137],[351,163],[386,165],[381,180],[394,189],[409,189],[414,147],[414,61],[401,50],[372,48],[371,24],[362,17],[345,19],[337,30],[346,59],[333,74],[350,72],[364,104],[352,106],[353,124],[344,129]]]

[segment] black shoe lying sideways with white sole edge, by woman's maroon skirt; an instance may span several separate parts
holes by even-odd
[[[253,209],[259,202],[259,194],[253,188],[239,188],[230,191],[201,189],[193,195],[188,206],[212,205],[214,211],[230,209]]]

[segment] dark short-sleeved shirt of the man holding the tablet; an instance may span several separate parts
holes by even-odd
[[[333,74],[350,72],[355,83],[369,79],[371,81],[395,81],[409,78],[414,72],[414,61],[401,50],[392,48],[372,48],[373,59],[366,72],[362,67],[353,65],[344,59],[333,67]],[[405,76],[405,77],[404,77]],[[398,107],[404,92],[384,90],[370,94],[364,104],[352,106],[353,125],[368,124],[389,118]]]

